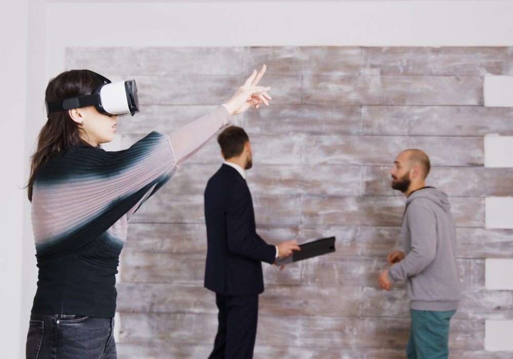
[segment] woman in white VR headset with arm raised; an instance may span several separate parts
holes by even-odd
[[[127,220],[187,158],[231,125],[232,115],[269,105],[269,88],[258,86],[265,70],[253,71],[211,113],[117,152],[99,146],[112,141],[116,114],[138,110],[135,82],[110,84],[89,70],[66,71],[49,82],[48,121],[28,184],[39,275],[27,358],[116,358],[114,285]]]

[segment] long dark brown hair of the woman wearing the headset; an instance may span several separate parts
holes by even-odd
[[[91,71],[65,71],[50,80],[45,97],[47,101],[56,101],[73,96],[90,95],[102,84],[103,80]],[[27,185],[29,201],[32,201],[32,186],[37,170],[57,153],[75,145],[87,144],[82,139],[83,134],[81,125],[71,119],[68,111],[50,113],[37,138],[37,149],[31,157]]]

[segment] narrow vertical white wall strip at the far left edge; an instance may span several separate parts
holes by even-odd
[[[19,356],[21,338],[21,286],[22,286],[22,238],[23,238],[23,196],[25,169],[25,106],[27,93],[27,0],[13,2],[9,11],[0,12],[0,71],[2,86],[3,128],[0,151],[2,153],[2,250],[0,251],[0,283],[2,295],[2,321],[0,338],[2,356]],[[12,36],[15,35],[13,39]]]

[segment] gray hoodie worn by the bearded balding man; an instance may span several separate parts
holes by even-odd
[[[406,257],[390,267],[388,277],[406,281],[410,308],[456,310],[461,297],[456,228],[447,195],[430,187],[411,193],[401,237]]]

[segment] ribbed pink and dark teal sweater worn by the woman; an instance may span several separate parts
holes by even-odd
[[[32,195],[39,268],[32,313],[113,317],[127,221],[230,118],[220,106],[169,135],[151,132],[129,149],[73,146],[41,167]]]

